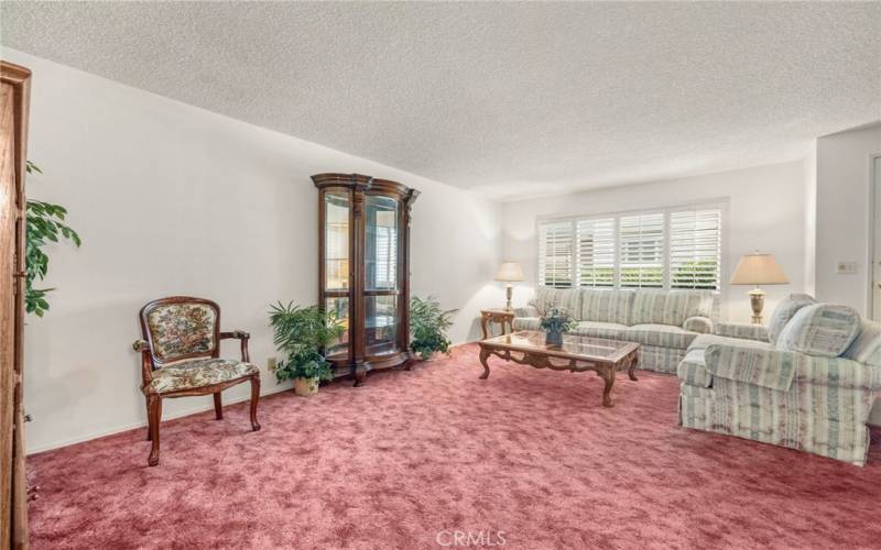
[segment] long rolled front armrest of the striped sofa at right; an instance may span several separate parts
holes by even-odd
[[[711,344],[704,352],[704,361],[714,376],[782,392],[787,392],[793,382],[866,392],[881,389],[881,369],[845,358]]]

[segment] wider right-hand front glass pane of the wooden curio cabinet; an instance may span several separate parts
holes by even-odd
[[[398,351],[399,201],[365,197],[365,338],[368,355]]]

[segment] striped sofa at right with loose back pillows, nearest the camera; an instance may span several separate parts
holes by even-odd
[[[677,367],[679,424],[866,464],[881,391],[881,324],[806,295],[768,329],[717,326]]]

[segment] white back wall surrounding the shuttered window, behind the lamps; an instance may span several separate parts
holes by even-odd
[[[790,162],[740,170],[655,182],[651,184],[597,189],[515,202],[503,209],[505,258],[520,261],[526,274],[523,288],[514,292],[515,301],[532,297],[537,276],[536,218],[595,215],[728,200],[724,222],[727,255],[722,260],[724,279],[742,254],[757,249],[774,254],[790,278],[790,285],[768,286],[765,317],[790,293],[805,290],[805,188],[806,163]],[[722,315],[733,321],[749,321],[750,288],[725,288]]]

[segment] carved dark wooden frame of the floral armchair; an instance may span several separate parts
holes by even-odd
[[[214,345],[205,352],[188,353],[175,355],[173,359],[162,358],[156,354],[153,341],[153,333],[150,330],[150,322],[148,316],[151,311],[159,307],[170,306],[175,304],[199,304],[208,306],[215,312],[214,321]],[[202,387],[192,387],[178,389],[166,393],[149,392],[148,387],[153,381],[153,372],[162,369],[165,364],[171,362],[178,362],[187,359],[218,359],[220,354],[220,340],[236,338],[241,342],[241,361],[250,362],[248,355],[248,339],[251,336],[242,330],[233,330],[231,332],[220,332],[220,306],[217,302],[204,298],[193,298],[189,296],[171,296],[161,298],[146,304],[141,308],[139,314],[141,320],[142,340],[137,340],[133,344],[135,351],[141,352],[141,391],[146,400],[146,421],[148,431],[146,440],[152,441],[150,449],[150,457],[148,463],[151,466],[159,464],[159,426],[162,420],[162,399],[167,397],[188,397],[195,395],[214,395],[214,410],[217,420],[224,418],[222,403],[220,399],[220,392],[224,389],[241,384],[243,382],[251,382],[251,429],[257,431],[260,429],[260,422],[257,421],[257,404],[260,399],[260,374],[248,374],[238,378],[229,380],[218,384],[210,384]]]

